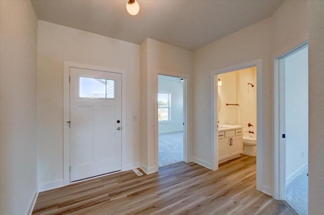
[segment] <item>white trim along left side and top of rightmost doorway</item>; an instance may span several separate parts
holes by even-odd
[[[280,138],[280,135],[285,132],[284,122],[282,122],[283,118],[280,115],[282,110],[282,106],[280,103],[282,102],[282,96],[280,97],[280,93],[284,93],[282,91],[283,86],[282,83],[279,81],[282,77],[280,77],[280,59],[287,57],[294,53],[296,50],[301,48],[303,45],[307,43],[308,40],[308,32],[304,33],[296,40],[286,44],[284,47],[280,48],[278,51],[273,53],[271,56],[271,71],[273,71],[271,76],[271,86],[272,86],[272,93],[271,93],[271,112],[272,112],[272,119],[271,119],[271,186],[272,186],[272,197],[274,199],[285,199],[285,189],[286,189],[286,170],[285,170],[285,160],[286,160],[286,152],[285,147],[283,146],[284,141]],[[282,76],[282,74],[281,74]],[[282,114],[282,112],[281,112]],[[281,119],[281,121],[280,121]],[[281,123],[281,126],[280,126]],[[280,168],[281,167],[281,168]]]

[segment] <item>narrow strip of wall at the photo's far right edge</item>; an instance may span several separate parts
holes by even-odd
[[[324,1],[308,1],[309,177],[308,214],[324,211]]]

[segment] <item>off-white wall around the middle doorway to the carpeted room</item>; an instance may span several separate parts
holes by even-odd
[[[157,104],[157,74],[158,73],[177,73],[192,76],[192,52],[147,38],[141,44],[141,117],[145,115],[145,122],[141,123],[141,167],[145,171],[152,173],[157,171],[157,128],[155,126],[155,105]],[[143,66],[142,66],[143,65]],[[189,99],[191,96],[191,83],[189,83]],[[143,87],[142,87],[143,85]],[[191,107],[188,108],[188,116],[191,116]],[[190,128],[191,122],[188,122]],[[156,132],[155,132],[156,131]],[[190,145],[191,132],[188,144]]]

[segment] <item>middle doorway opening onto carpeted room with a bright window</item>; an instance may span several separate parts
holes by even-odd
[[[184,161],[185,79],[158,75],[158,167]]]

